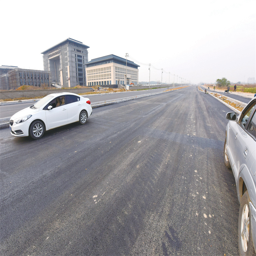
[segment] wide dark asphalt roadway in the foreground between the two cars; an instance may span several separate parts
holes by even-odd
[[[237,255],[229,111],[192,86],[38,141],[1,129],[0,255]]]

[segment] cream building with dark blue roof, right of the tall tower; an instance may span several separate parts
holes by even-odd
[[[85,66],[87,86],[117,88],[118,85],[137,85],[139,81],[140,66],[130,60],[126,66],[126,59],[113,54],[92,59]]]

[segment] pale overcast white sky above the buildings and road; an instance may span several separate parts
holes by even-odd
[[[128,53],[139,81],[256,79],[255,0],[0,0],[0,10],[0,66],[43,70],[41,52],[72,38],[89,61]]]

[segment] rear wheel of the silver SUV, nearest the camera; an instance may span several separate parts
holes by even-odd
[[[238,218],[238,248],[240,255],[255,255],[249,202],[251,200],[246,190],[241,199]]]

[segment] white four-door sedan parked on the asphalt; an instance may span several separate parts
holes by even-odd
[[[11,134],[37,140],[45,131],[62,125],[74,122],[84,125],[92,113],[90,104],[88,98],[74,93],[49,94],[11,117]]]

